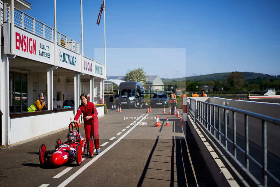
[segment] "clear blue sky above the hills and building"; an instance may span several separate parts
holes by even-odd
[[[27,14],[54,27],[53,1]],[[102,0],[83,0],[84,55],[104,63]],[[105,1],[107,76],[248,71],[280,75],[280,1]],[[80,1],[57,0],[57,30],[81,41]]]

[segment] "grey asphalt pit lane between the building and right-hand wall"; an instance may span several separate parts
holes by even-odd
[[[68,129],[2,149],[0,186],[216,186],[188,125],[179,127],[180,118],[162,111],[110,110],[99,119],[101,153],[80,166],[40,166],[41,143],[54,150]],[[154,127],[156,115],[161,127]],[[163,126],[167,116],[170,127]],[[139,125],[131,124],[134,117]]]

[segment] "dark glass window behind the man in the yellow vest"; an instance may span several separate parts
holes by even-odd
[[[9,72],[10,112],[27,111],[27,75]]]

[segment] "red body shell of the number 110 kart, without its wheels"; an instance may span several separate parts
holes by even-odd
[[[85,147],[86,147],[86,141],[82,138],[82,135],[80,134],[80,141],[75,143],[63,143],[61,144],[55,152],[50,157],[50,164],[54,166],[60,166],[62,164],[65,164],[68,161],[75,160],[76,158],[76,147],[78,143],[81,144],[82,152],[81,154],[85,153]],[[78,154],[80,154],[78,152]]]

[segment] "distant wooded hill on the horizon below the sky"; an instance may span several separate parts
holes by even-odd
[[[182,77],[182,78],[177,78],[177,79],[164,79],[162,78],[163,82],[171,82],[173,80],[176,81],[200,81],[200,80],[206,80],[206,81],[214,81],[214,80],[226,80],[228,73],[212,73],[208,75],[198,75],[198,76],[190,76],[190,77]],[[263,78],[271,78],[271,79],[280,79],[280,75],[278,76],[273,76],[273,75],[268,75],[268,74],[263,74],[263,73],[254,73],[254,72],[242,72],[244,79],[245,80],[250,80],[250,79],[256,79],[258,77]]]

